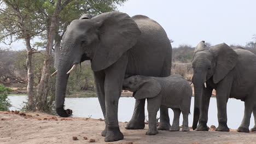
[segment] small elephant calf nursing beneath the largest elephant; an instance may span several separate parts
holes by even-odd
[[[189,131],[188,115],[190,112],[190,101],[192,89],[187,80],[181,75],[168,77],[152,77],[135,75],[128,77],[123,82],[123,89],[135,92],[135,99],[147,98],[149,130],[147,135],[158,133],[156,127],[156,113],[160,105],[171,108],[174,112],[171,131],[179,130],[179,115],[183,115],[182,131]]]

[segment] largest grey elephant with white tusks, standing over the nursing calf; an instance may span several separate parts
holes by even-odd
[[[70,23],[62,38],[57,67],[56,112],[68,117],[64,110],[67,71],[72,65],[91,61],[98,100],[106,123],[102,136],[105,141],[118,141],[123,134],[118,125],[118,101],[125,75],[169,76],[172,47],[164,29],[147,16],[130,17],[110,12],[90,19],[84,15]],[[136,100],[135,110],[127,129],[144,128],[145,99]],[[168,129],[167,107],[161,107],[161,128]]]

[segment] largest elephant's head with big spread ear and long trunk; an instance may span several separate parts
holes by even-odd
[[[72,113],[63,107],[68,76],[74,66],[91,60],[92,70],[106,69],[131,49],[141,34],[135,21],[124,13],[109,12],[90,18],[83,15],[73,20],[62,38],[55,95],[56,112],[61,117]]]

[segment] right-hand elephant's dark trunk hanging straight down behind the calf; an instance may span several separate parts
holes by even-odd
[[[197,128],[197,123],[200,117],[200,110],[202,104],[202,89],[204,81],[200,77],[193,76],[194,83],[194,118],[193,118],[193,130]]]

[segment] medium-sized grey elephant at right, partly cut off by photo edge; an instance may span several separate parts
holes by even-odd
[[[256,56],[240,47],[232,49],[225,43],[206,49],[205,42],[201,41],[196,46],[192,65],[195,89],[193,129],[208,130],[208,107],[214,88],[219,122],[216,131],[229,131],[226,125],[229,98],[245,101],[243,121],[237,131],[249,132],[252,111],[255,125],[251,130],[256,131]]]

